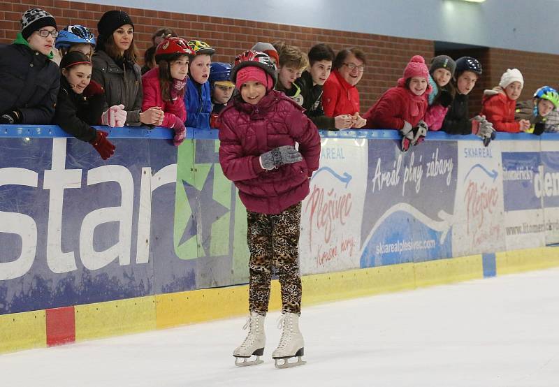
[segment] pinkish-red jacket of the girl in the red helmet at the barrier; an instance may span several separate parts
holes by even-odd
[[[177,97],[173,102],[163,101],[161,85],[159,84],[159,68],[152,68],[142,76],[143,102],[142,111],[154,106],[160,106],[165,112],[163,124],[166,128],[172,128],[175,124],[175,117],[179,117],[182,122],[187,121],[187,110],[184,108],[184,99]]]

